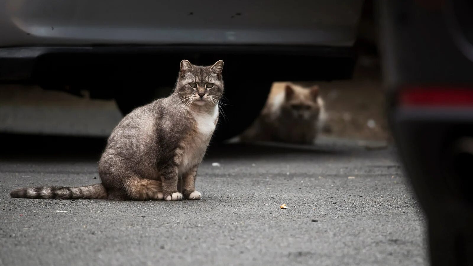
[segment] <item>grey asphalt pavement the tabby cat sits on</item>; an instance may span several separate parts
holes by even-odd
[[[425,218],[391,148],[213,145],[202,200],[39,200],[9,191],[98,183],[104,140],[1,139],[15,143],[0,152],[2,266],[427,264]]]

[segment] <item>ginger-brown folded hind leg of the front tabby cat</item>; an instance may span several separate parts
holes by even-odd
[[[132,176],[124,180],[123,186],[127,197],[131,200],[162,200],[164,197],[159,180]]]

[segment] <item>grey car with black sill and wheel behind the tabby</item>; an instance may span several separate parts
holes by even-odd
[[[276,80],[350,78],[362,0],[5,0],[0,82],[115,98],[124,114],[167,96],[179,62],[225,62],[227,120],[241,133]]]

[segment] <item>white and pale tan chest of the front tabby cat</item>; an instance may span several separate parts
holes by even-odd
[[[193,112],[196,132],[192,134],[191,139],[184,146],[179,174],[186,173],[194,165],[200,163],[215,130],[215,121],[218,119],[218,116],[219,110],[217,106],[210,112]]]

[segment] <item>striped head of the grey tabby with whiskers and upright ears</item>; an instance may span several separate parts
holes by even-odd
[[[222,60],[205,67],[183,60],[175,92],[185,104],[214,106],[223,94],[222,70]]]

